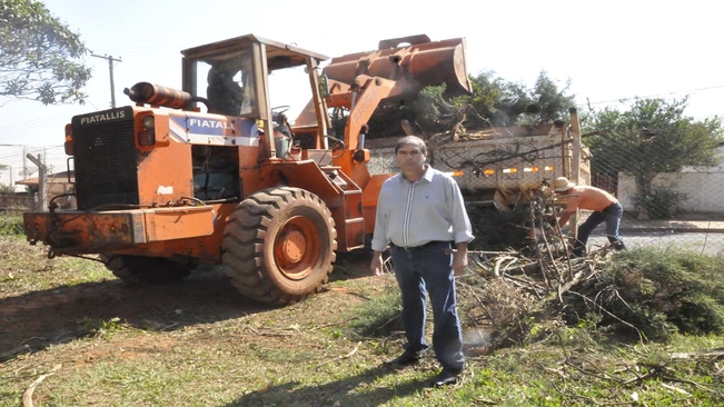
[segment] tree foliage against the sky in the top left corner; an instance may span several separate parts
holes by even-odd
[[[88,49],[33,0],[0,0],[0,96],[43,105],[80,102],[90,68]]]

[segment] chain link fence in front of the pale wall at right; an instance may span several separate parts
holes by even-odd
[[[627,136],[584,140],[592,185],[624,207],[626,245],[724,255],[724,146],[646,129]]]

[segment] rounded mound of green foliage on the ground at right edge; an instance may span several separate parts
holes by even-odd
[[[675,332],[723,334],[723,276],[721,257],[654,248],[619,251],[595,284],[597,304],[616,317],[604,312],[602,324],[628,331],[636,327],[649,340]]]

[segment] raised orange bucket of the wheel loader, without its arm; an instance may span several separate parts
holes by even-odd
[[[359,75],[390,80],[406,79],[419,90],[446,85],[446,91],[470,93],[465,62],[465,39],[430,41],[425,34],[383,40],[379,49],[334,58],[325,67],[333,79],[353,83]]]

